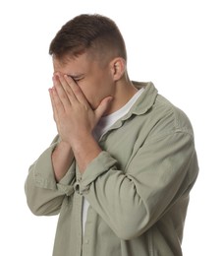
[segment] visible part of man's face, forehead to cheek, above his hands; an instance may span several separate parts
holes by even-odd
[[[71,76],[81,88],[87,101],[95,109],[106,96],[113,96],[114,81],[109,64],[99,65],[87,53],[61,62],[53,58],[54,73]]]

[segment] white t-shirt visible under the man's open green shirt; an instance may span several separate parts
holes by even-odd
[[[127,114],[130,111],[130,108],[134,105],[134,103],[137,101],[139,96],[142,94],[144,91],[143,88],[141,88],[137,94],[135,94],[122,108],[119,110],[115,111],[114,113],[111,113],[109,115],[101,117],[100,121],[97,123],[96,127],[94,128],[93,131],[93,136],[95,140],[99,141],[101,135],[106,133],[108,129],[122,116]],[[89,203],[87,202],[86,199],[84,199],[83,203],[83,234],[84,234],[84,225],[86,222],[86,215],[87,215],[87,210],[89,207]]]

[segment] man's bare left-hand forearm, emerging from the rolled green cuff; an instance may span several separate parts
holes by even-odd
[[[71,146],[61,141],[52,153],[52,165],[56,181],[60,181],[67,173],[74,160],[74,153]]]

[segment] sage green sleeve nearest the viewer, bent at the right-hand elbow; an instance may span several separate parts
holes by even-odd
[[[141,147],[126,171],[101,153],[84,172],[81,193],[115,233],[130,239],[157,222],[195,182],[191,135],[177,132]]]

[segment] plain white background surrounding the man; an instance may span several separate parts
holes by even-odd
[[[81,13],[113,19],[132,80],[152,81],[190,117],[200,172],[191,194],[185,256],[223,255],[223,7],[216,0],[8,0],[0,3],[0,255],[51,255],[57,217],[26,204],[28,166],[56,129],[48,96],[48,46]]]

